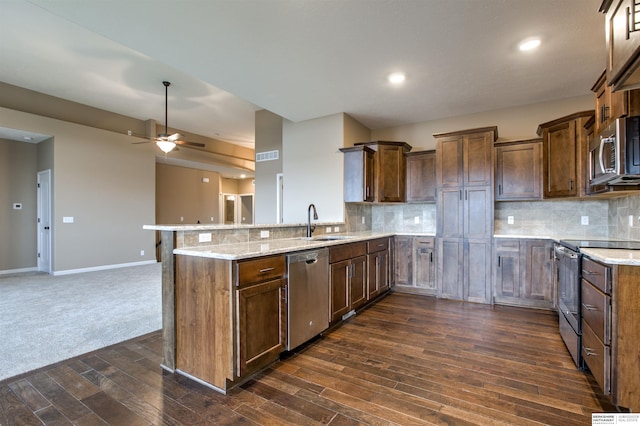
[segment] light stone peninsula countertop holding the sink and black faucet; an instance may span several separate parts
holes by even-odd
[[[322,238],[323,235],[318,235],[311,239],[305,237],[285,238],[281,240],[265,239],[264,241],[251,241],[246,243],[183,247],[173,250],[173,253],[187,256],[210,257],[214,259],[239,260],[259,256],[268,256],[272,254],[283,254],[312,250],[357,241],[366,241],[373,238],[392,237],[394,235],[395,234],[392,232],[350,232],[343,234],[331,234],[329,235],[330,237],[347,238],[330,241],[320,241],[314,239]]]

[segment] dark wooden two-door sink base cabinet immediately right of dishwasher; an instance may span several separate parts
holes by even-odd
[[[367,301],[367,244],[329,248],[329,314],[331,322]]]

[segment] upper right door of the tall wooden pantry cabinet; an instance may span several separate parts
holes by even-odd
[[[492,136],[492,132],[463,136],[463,183],[465,186],[491,185]]]

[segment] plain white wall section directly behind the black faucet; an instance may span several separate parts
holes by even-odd
[[[343,114],[284,121],[284,223],[306,223],[311,203],[318,222],[344,220],[343,138]]]

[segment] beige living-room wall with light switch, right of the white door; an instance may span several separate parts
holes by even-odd
[[[53,135],[54,272],[155,261],[155,234],[142,229],[155,222],[152,144],[7,108],[0,127]]]

